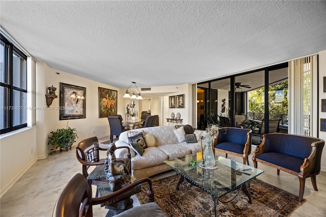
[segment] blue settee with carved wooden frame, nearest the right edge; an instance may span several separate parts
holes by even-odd
[[[254,167],[257,162],[274,167],[277,174],[280,170],[295,175],[300,181],[298,201],[302,201],[305,191],[306,178],[311,177],[315,191],[316,175],[320,172],[321,152],[324,141],[304,135],[285,133],[267,133],[263,135],[263,141],[253,152]]]

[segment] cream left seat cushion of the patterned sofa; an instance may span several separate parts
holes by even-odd
[[[131,158],[132,170],[140,170],[156,165],[164,164],[163,160],[168,160],[169,156],[157,147],[149,147],[144,150],[143,155],[136,155]]]

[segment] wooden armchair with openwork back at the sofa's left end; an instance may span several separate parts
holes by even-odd
[[[117,166],[125,164],[131,174],[131,154],[130,149],[127,146],[121,146],[118,148],[128,149],[127,158],[117,158]],[[78,161],[83,165],[83,175],[88,180],[89,185],[103,185],[108,183],[106,180],[106,174],[104,172],[105,158],[100,159],[99,151],[107,151],[106,148],[99,147],[97,137],[92,137],[80,141],[76,146],[76,156]],[[88,172],[90,167],[94,167],[92,172]],[[96,197],[98,192],[96,191]]]

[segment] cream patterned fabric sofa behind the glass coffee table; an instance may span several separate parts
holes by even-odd
[[[141,179],[144,177],[150,177],[161,172],[171,170],[169,166],[164,164],[163,160],[181,158],[187,154],[196,155],[201,151],[200,143],[178,143],[176,135],[174,133],[174,126],[156,126],[133,129],[128,131],[143,131],[143,134],[151,134],[155,138],[155,147],[148,147],[145,149],[143,155],[135,153],[128,140],[128,131],[122,132],[119,136],[119,140],[115,143],[119,146],[129,146],[131,153],[131,171],[132,175]],[[202,132],[202,130],[200,130]],[[195,131],[199,137],[199,130]],[[117,157],[126,157],[126,149],[117,149],[115,151]]]

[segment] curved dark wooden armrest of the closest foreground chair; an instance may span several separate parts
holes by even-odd
[[[118,191],[116,191],[116,192],[114,192],[114,193],[112,193],[110,195],[106,195],[106,196],[103,196],[103,197],[92,198],[92,201],[93,201],[92,204],[96,205],[96,204],[104,203],[104,202],[109,201],[109,200],[113,200],[117,196],[119,196],[119,195],[121,195],[123,193],[126,193],[130,189],[136,187],[139,184],[145,183],[145,182],[148,182],[147,202],[148,203],[153,202],[154,201],[154,191],[153,191],[153,188],[152,188],[152,181],[149,178],[142,178],[142,179],[137,180],[137,181],[135,181],[135,182],[133,182],[131,184],[128,184],[127,186],[119,189]]]

